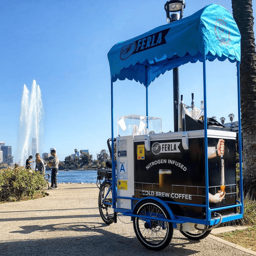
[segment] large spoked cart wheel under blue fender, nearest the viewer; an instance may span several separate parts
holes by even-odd
[[[135,210],[133,227],[140,243],[146,248],[154,251],[164,249],[172,239],[173,225],[171,222],[161,220],[149,220],[144,216],[160,219],[170,219],[167,210],[159,202],[144,200]]]

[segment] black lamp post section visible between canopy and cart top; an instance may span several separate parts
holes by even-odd
[[[179,131],[179,68],[173,69],[173,123],[174,132]]]

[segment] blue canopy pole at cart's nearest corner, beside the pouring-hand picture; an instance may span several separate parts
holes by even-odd
[[[208,180],[208,138],[207,138],[207,101],[206,101],[206,55],[203,55],[203,101],[204,101],[204,135],[205,135],[205,196],[206,196],[206,220],[211,220],[209,209],[209,180]]]

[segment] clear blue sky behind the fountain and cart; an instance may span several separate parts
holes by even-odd
[[[17,136],[23,85],[39,84],[44,106],[42,152],[56,148],[60,160],[74,149],[96,157],[111,137],[110,70],[107,53],[119,41],[166,24],[166,1],[1,1],[0,141],[12,146]],[[216,3],[232,13],[231,0],[186,0],[184,17]],[[253,4],[255,1],[253,0]],[[190,105],[203,100],[202,63],[180,68],[180,93]],[[236,68],[228,61],[207,62],[208,116],[229,113],[238,120]],[[162,118],[162,131],[173,130],[172,71],[149,86],[149,116]],[[145,88],[125,80],[114,83],[114,120],[145,115]],[[155,104],[158,102],[158,104]],[[115,124],[117,126],[117,124]],[[116,135],[116,134],[115,134]]]

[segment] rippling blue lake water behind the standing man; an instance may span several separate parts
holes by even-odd
[[[51,171],[45,171],[45,173],[50,174],[50,181],[51,181]],[[58,183],[96,183],[97,181],[97,170],[83,170],[83,171],[61,171],[59,170],[57,174],[57,181]]]

